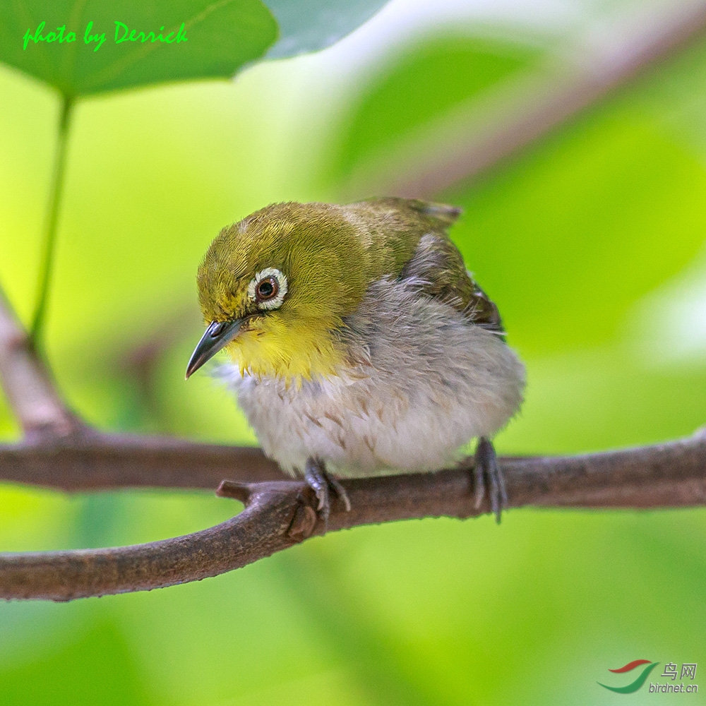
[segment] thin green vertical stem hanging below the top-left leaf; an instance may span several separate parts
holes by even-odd
[[[47,208],[47,219],[44,226],[44,247],[42,251],[39,281],[37,282],[37,304],[35,305],[35,314],[32,317],[32,325],[30,327],[30,342],[35,349],[37,349],[40,337],[42,336],[49,301],[49,284],[52,278],[52,265],[54,264],[54,251],[56,249],[56,224],[59,220],[59,205],[61,204],[61,196],[64,191],[66,146],[68,144],[68,131],[71,125],[72,107],[73,99],[68,96],[63,96],[61,115],[59,116],[56,153],[54,155],[54,170],[52,172],[52,183],[49,191],[49,207]]]

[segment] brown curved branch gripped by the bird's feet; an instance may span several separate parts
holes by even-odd
[[[352,510],[333,501],[328,530],[417,517],[471,517],[468,459],[459,469],[343,481]],[[706,503],[706,434],[575,457],[503,458],[510,508],[657,508]],[[119,549],[0,555],[0,597],[66,601],[150,590],[246,566],[325,529],[297,481],[225,481],[246,503],[232,520],[185,537]]]

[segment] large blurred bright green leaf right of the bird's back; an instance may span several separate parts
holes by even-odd
[[[602,345],[702,247],[706,170],[628,104],[607,104],[443,201],[526,354]]]

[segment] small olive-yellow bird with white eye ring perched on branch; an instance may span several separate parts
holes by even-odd
[[[221,230],[198,267],[206,330],[265,455],[304,476],[328,522],[342,478],[429,472],[477,439],[474,498],[508,503],[493,436],[525,366],[448,229],[460,208],[406,198],[273,203]]]

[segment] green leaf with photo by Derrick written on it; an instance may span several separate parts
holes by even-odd
[[[1,0],[0,16],[0,61],[70,98],[228,78],[263,56],[277,35],[260,0]]]

